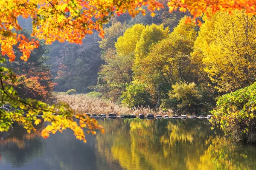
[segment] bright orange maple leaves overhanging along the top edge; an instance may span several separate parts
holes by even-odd
[[[13,32],[21,29],[17,22],[19,16],[33,19],[32,36],[46,40],[46,44],[56,40],[81,44],[85,35],[92,34],[93,30],[99,31],[103,37],[102,26],[114,13],[128,12],[134,17],[141,12],[144,15],[142,6],[148,6],[151,12],[163,8],[157,0],[1,0],[1,53],[13,61],[13,45],[20,42],[21,58],[26,61],[31,51],[38,47],[38,41],[29,41]],[[188,10],[194,17],[201,16],[208,7],[212,8],[212,13],[243,9],[248,14],[256,14],[255,0],[171,0],[168,6],[170,12]]]

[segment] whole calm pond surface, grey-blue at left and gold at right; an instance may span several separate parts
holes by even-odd
[[[16,125],[0,135],[0,170],[256,169],[256,147],[226,139],[207,120],[106,118],[99,123],[106,133],[87,135],[86,144],[69,130],[43,139],[39,131],[27,134]]]

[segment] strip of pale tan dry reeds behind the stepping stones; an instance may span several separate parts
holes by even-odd
[[[116,113],[117,115],[121,114],[159,114],[159,115],[168,115],[172,116],[172,110],[169,111],[157,111],[150,108],[127,108],[120,105],[116,105],[111,101],[106,101],[96,97],[90,97],[86,94],[77,94],[77,95],[66,95],[66,94],[56,94],[56,99],[58,101],[66,102],[73,108],[76,113],[96,113],[96,114],[108,114]]]

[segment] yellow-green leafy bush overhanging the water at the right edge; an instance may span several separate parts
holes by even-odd
[[[234,139],[256,142],[256,82],[221,96],[211,111],[213,125],[219,125]]]

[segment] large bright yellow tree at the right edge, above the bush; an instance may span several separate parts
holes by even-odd
[[[205,16],[193,58],[219,92],[235,91],[256,79],[256,19],[244,11]],[[202,69],[201,69],[202,70]]]

